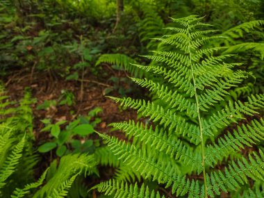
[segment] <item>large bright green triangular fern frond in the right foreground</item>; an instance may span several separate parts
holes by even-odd
[[[232,197],[264,197],[264,153],[258,147],[264,138],[264,121],[256,116],[264,106],[264,95],[227,100],[229,90],[248,73],[238,69],[238,63],[224,62],[231,55],[214,55],[222,47],[205,47],[221,36],[212,35],[210,25],[201,19],[194,15],[172,19],[175,26],[168,28],[172,34],[157,40],[175,50],[146,56],[157,64],[135,65],[162,77],[132,78],[162,102],[113,97],[124,108],[149,117],[155,126],[113,123],[133,137],[129,142],[100,136],[124,164],[143,179],[158,181],[176,197],[219,197],[222,192]],[[145,184],[116,179],[94,188],[113,197],[162,196]]]

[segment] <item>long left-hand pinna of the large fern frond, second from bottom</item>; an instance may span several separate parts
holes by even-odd
[[[119,155],[119,158],[123,159],[126,165],[135,168],[145,179],[151,176],[153,180],[157,180],[159,183],[166,183],[166,188],[172,185],[172,192],[176,192],[177,196],[189,193],[193,197],[199,197],[198,181],[190,181],[185,176],[181,176],[179,171],[170,164],[157,161],[155,154],[146,154],[133,145],[118,141],[117,138],[110,138],[104,134],[99,135],[106,140],[110,149]]]

